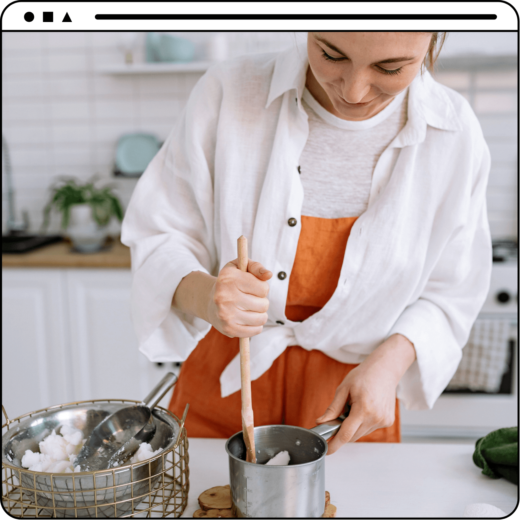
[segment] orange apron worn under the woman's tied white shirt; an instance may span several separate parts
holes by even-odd
[[[290,320],[303,321],[332,296],[356,218],[302,216],[285,307],[285,316]],[[180,417],[189,402],[185,426],[190,437],[227,438],[242,430],[240,391],[222,398],[219,382],[220,374],[238,352],[238,337],[227,337],[212,327],[183,363],[170,410]],[[320,350],[288,347],[267,372],[251,382],[255,425],[316,426],[316,419],[331,404],[337,386],[356,366],[340,363]],[[398,443],[397,399],[395,413],[392,426],[359,440]]]

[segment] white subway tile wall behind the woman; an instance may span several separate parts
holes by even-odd
[[[212,33],[173,33],[196,45],[207,59]],[[226,33],[229,57],[272,52],[293,45],[303,33]],[[58,176],[86,180],[97,174],[115,186],[126,206],[136,179],[113,177],[118,138],[147,132],[162,141],[170,133],[201,73],[110,76],[102,67],[144,61],[145,33],[3,33],[3,134],[16,194],[16,211],[29,213],[31,229],[42,223],[48,187]],[[515,238],[517,227],[516,70],[446,70],[439,82],[472,103],[492,157],[488,212],[494,238]],[[7,207],[2,178],[2,229]],[[50,230],[59,229],[57,215]],[[116,234],[119,225],[112,223]]]

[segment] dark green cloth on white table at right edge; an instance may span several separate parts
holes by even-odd
[[[518,485],[518,426],[500,428],[478,439],[473,462],[491,478],[504,477]]]

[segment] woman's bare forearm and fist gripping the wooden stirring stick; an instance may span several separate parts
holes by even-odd
[[[249,259],[248,270],[238,268],[238,258],[226,264],[218,277],[190,272],[179,283],[173,307],[202,318],[228,337],[251,337],[267,321],[272,272]]]

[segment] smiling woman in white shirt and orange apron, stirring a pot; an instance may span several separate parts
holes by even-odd
[[[309,33],[194,87],[122,233],[141,352],[186,360],[170,408],[190,403],[190,436],[241,430],[239,337],[256,425],[312,427],[350,403],[329,453],[399,441],[396,393],[423,409],[446,387],[491,244],[482,131],[423,67],[443,38]]]

